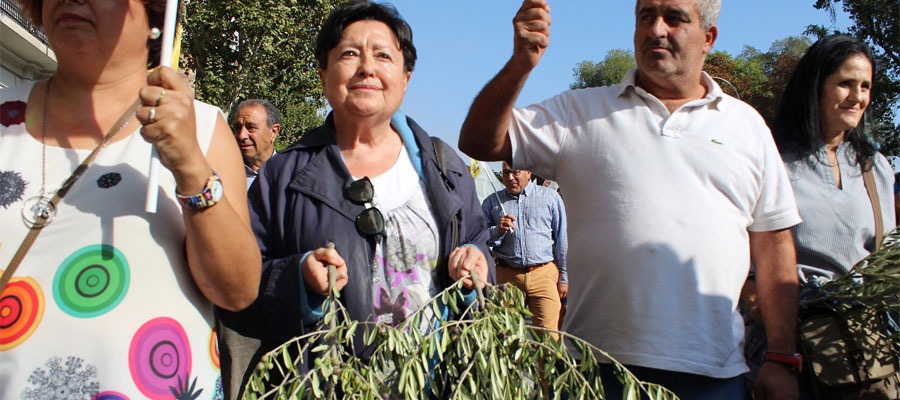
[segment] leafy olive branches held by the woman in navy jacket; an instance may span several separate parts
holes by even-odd
[[[554,399],[604,399],[598,358],[613,363],[627,398],[677,398],[577,337],[557,332],[555,340],[526,324],[524,295],[510,285],[488,286],[466,306],[457,282],[396,327],[351,321],[337,296],[332,290],[314,332],[263,357],[244,399],[541,399],[542,379]],[[435,321],[439,304],[462,318]],[[353,347],[358,332],[371,350],[365,361]]]

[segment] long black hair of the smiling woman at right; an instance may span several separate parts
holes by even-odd
[[[822,140],[822,116],[819,115],[819,99],[825,80],[837,72],[844,61],[856,55],[869,60],[874,77],[875,60],[869,46],[859,38],[830,35],[819,39],[806,50],[788,81],[773,123],[772,134],[779,150],[793,148],[802,155],[809,155],[825,144]],[[865,114],[868,113],[866,109]],[[875,145],[865,135],[866,115],[860,119],[859,125],[844,135],[860,166],[865,166],[865,161],[875,155]]]

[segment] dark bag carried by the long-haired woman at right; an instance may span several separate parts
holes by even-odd
[[[831,300],[800,306],[800,349],[814,399],[900,398],[897,349],[884,313]]]

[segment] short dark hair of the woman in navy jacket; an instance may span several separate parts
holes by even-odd
[[[348,1],[335,7],[328,15],[316,37],[315,54],[319,69],[328,69],[328,52],[341,41],[344,29],[357,21],[379,21],[387,25],[400,42],[404,69],[406,72],[412,72],[416,66],[416,46],[412,41],[412,28],[400,17],[394,6],[368,0]]]

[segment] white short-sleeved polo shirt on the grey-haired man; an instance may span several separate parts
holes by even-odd
[[[794,195],[753,108],[704,73],[670,114],[635,74],[513,111],[513,167],[558,181],[568,210],[564,329],[625,364],[734,377],[748,231],[800,223]]]

